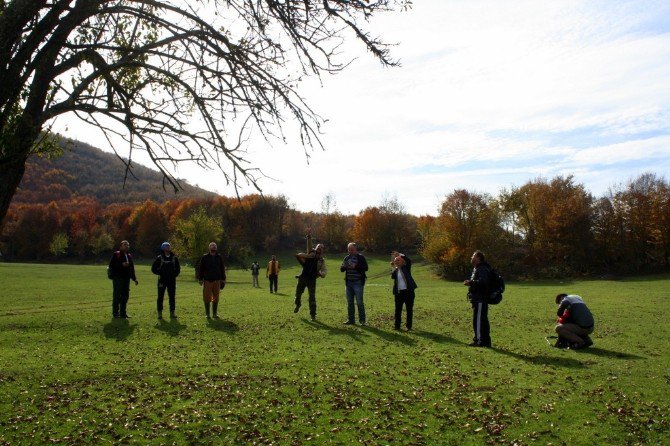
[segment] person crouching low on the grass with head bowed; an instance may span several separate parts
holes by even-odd
[[[558,323],[556,333],[559,348],[578,350],[593,345],[589,337],[593,333],[595,321],[589,307],[576,294],[561,293],[556,296]]]

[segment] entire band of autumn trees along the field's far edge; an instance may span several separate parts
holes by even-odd
[[[10,208],[0,238],[5,259],[87,260],[106,256],[121,239],[152,257],[170,240],[192,264],[215,240],[231,264],[256,254],[302,249],[305,228],[329,252],[356,241],[367,252],[419,254],[445,277],[461,278],[483,250],[508,277],[643,274],[670,261],[670,184],[646,173],[594,197],[572,176],[535,179],[494,197],[453,191],[439,214],[414,216],[397,198],[357,215],[339,212],[328,195],[319,212],[301,212],[284,196],[208,197],[102,206],[75,196]]]

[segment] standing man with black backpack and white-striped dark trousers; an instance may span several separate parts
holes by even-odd
[[[491,328],[489,326],[489,304],[488,297],[491,294],[490,281],[492,268],[486,262],[484,253],[475,251],[470,263],[474,267],[470,279],[465,280],[463,285],[468,287],[468,300],[472,304],[472,328],[475,332],[470,346],[490,347]]]

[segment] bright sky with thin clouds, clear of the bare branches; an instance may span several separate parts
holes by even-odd
[[[369,29],[401,67],[348,45],[348,69],[303,85],[328,119],[325,150],[308,163],[296,143],[251,143],[265,193],[301,211],[331,194],[345,214],[396,198],[437,215],[455,189],[496,196],[573,175],[601,196],[646,172],[670,179],[667,0],[415,0]],[[216,170],[177,174],[234,194]]]

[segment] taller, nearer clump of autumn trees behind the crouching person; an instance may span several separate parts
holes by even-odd
[[[572,176],[536,179],[497,197],[456,190],[420,230],[424,257],[446,276],[466,274],[475,249],[520,278],[663,271],[670,184],[645,173],[599,198]]]

